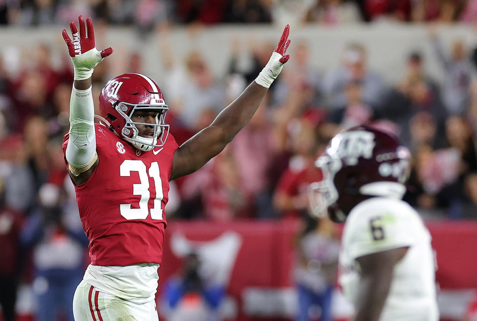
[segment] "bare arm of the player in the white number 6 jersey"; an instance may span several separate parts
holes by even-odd
[[[353,321],[378,321],[388,297],[397,262],[406,254],[407,247],[369,254],[356,260],[361,268]]]

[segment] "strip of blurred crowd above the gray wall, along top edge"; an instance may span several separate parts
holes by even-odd
[[[472,22],[476,0],[2,0],[0,24],[68,23],[83,14],[107,23],[150,29],[170,23],[267,23],[323,25],[393,19]]]

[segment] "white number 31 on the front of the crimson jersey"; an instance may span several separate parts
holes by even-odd
[[[151,163],[151,167],[147,170],[143,161],[126,159],[119,167],[119,171],[121,176],[131,176],[131,172],[138,172],[140,183],[133,184],[133,195],[141,196],[139,208],[131,208],[131,204],[121,204],[119,206],[121,215],[127,220],[145,220],[149,212],[151,212],[152,219],[161,220],[162,208],[160,208],[160,201],[162,200],[163,193],[158,162]],[[154,199],[154,206],[149,210],[148,203],[151,198],[151,193],[149,192],[150,177],[154,179],[156,198]]]

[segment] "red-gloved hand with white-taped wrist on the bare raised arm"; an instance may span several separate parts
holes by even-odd
[[[283,64],[290,59],[290,55],[285,55],[287,53],[288,46],[290,45],[290,40],[288,40],[289,33],[290,25],[287,24],[285,26],[285,30],[283,30],[280,40],[278,41],[277,48],[273,51],[270,60],[255,79],[257,84],[265,88],[270,88],[273,80],[275,80],[280,71],[282,71]]]

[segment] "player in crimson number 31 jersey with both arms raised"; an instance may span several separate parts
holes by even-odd
[[[74,21],[70,29],[73,39],[65,29],[63,38],[75,81],[63,148],[91,259],[75,293],[75,320],[158,320],[154,299],[169,181],[197,171],[247,124],[290,58],[289,26],[255,81],[181,146],[165,123],[168,108],[159,86],[142,74],[106,83],[94,124],[91,75],[113,50],[96,50],[89,18],[85,27],[79,16],[79,32]]]

